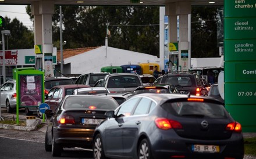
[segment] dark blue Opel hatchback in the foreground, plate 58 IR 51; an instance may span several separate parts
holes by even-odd
[[[218,100],[142,93],[105,113],[94,131],[94,158],[240,158],[241,125]]]

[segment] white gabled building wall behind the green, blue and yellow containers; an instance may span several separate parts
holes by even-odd
[[[105,66],[121,66],[123,64],[148,62],[159,64],[159,59],[157,56],[109,46],[107,52],[105,46],[101,46],[97,49],[64,59],[64,64],[71,64],[71,74],[97,73],[101,71],[101,67]]]

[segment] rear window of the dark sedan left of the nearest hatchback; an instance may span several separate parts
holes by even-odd
[[[72,109],[104,109],[115,110],[118,103],[114,99],[98,96],[69,96],[66,98],[63,108]]]

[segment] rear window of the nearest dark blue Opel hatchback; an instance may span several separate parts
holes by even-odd
[[[207,102],[166,102],[163,109],[177,116],[226,118],[224,107],[221,104]]]

